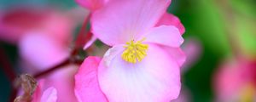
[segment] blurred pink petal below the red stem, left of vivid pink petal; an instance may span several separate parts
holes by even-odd
[[[57,102],[77,102],[73,88],[74,88],[74,75],[78,70],[79,65],[66,65],[62,68],[49,73],[48,76],[39,77],[44,78],[44,87],[54,87],[57,89]]]

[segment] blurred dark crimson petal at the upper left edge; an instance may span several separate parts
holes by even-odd
[[[42,24],[46,12],[16,8],[0,13],[0,40],[16,44],[24,32]],[[35,25],[36,24],[36,25]]]

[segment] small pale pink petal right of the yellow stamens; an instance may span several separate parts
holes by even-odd
[[[145,38],[145,42],[154,42],[173,48],[178,48],[183,43],[183,37],[175,26],[155,27]]]

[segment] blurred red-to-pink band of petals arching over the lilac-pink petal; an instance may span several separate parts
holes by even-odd
[[[69,38],[71,26],[71,20],[54,10],[13,8],[0,16],[0,38],[15,44],[27,31],[49,31],[49,36],[64,40]]]

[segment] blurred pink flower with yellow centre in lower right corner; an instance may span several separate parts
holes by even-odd
[[[247,59],[224,61],[213,80],[216,101],[256,101],[255,66],[255,61]]]

